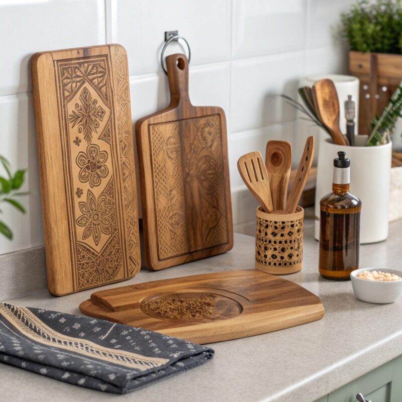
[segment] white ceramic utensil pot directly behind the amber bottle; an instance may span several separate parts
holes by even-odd
[[[358,135],[354,147],[336,145],[320,135],[316,186],[315,238],[320,239],[320,199],[332,191],[333,160],[338,151],[350,159],[350,191],[361,199],[360,243],[375,243],[388,236],[389,179],[392,143],[364,146],[367,136]]]

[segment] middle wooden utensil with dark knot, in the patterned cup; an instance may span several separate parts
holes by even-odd
[[[284,210],[287,183],[292,164],[292,146],[287,141],[268,141],[265,152],[265,166],[269,174],[274,210]]]

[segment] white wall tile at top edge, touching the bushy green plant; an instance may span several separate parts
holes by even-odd
[[[316,48],[342,42],[341,13],[348,11],[355,0],[309,0],[307,47]]]

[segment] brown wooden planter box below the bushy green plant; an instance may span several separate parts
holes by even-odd
[[[349,52],[349,73],[360,80],[359,134],[369,134],[402,80],[402,55]]]

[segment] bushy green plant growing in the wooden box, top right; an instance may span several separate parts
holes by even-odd
[[[341,15],[342,36],[359,52],[402,53],[400,0],[358,0]]]

